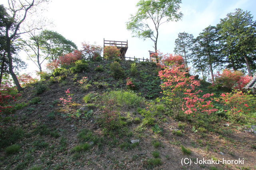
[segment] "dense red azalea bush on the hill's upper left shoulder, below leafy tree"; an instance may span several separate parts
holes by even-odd
[[[61,65],[70,65],[75,63],[75,61],[82,59],[82,52],[79,50],[75,50],[73,53],[68,53],[64,56],[60,56],[60,64]]]

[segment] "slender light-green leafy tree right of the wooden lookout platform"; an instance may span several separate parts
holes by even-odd
[[[183,14],[179,12],[181,0],[140,0],[137,3],[138,11],[131,15],[126,28],[132,31],[135,37],[150,38],[154,42],[157,52],[159,27],[168,21],[178,21]]]

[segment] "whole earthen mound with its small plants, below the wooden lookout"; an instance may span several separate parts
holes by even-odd
[[[0,119],[1,169],[255,169],[256,136],[245,131],[255,119],[174,118],[161,99],[160,70],[80,61],[41,75]],[[189,166],[182,158],[244,164]]]

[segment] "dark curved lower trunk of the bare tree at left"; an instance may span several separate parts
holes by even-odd
[[[7,57],[8,57],[8,60],[9,60],[9,72],[12,76],[12,79],[13,79],[15,85],[17,86],[17,90],[20,92],[20,90],[22,90],[22,87],[20,86],[19,80],[18,80],[18,78],[17,78],[17,76],[14,73],[13,68],[12,68],[12,54],[11,54],[10,38],[9,37],[7,37],[6,52],[7,52]]]

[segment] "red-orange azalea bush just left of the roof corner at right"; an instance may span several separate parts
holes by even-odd
[[[215,75],[214,86],[225,87],[229,90],[238,89],[243,90],[243,88],[252,80],[251,76],[244,76],[241,71],[224,69],[222,73],[218,72]]]

